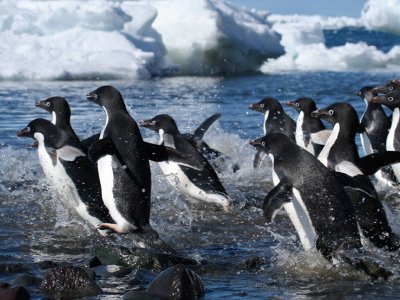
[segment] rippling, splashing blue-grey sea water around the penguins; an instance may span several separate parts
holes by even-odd
[[[399,43],[392,35],[380,39],[379,33],[368,35],[352,28],[326,31],[325,35],[328,46],[371,37],[384,40],[378,47],[386,51]],[[180,254],[208,262],[198,272],[206,288],[205,299],[397,298],[400,263],[393,259],[398,258],[397,253],[389,255],[366,245],[371,255],[394,273],[387,281],[371,281],[350,268],[332,267],[312,251],[304,252],[283,211],[273,224],[265,224],[260,207],[272,188],[271,169],[266,159],[259,170],[253,170],[255,151],[249,141],[262,135],[263,116],[250,111],[248,105],[265,96],[282,103],[309,96],[320,108],[348,102],[361,116],[364,102],[355,92],[399,76],[400,72],[288,72],[127,81],[1,81],[0,264],[74,262],[91,256],[99,244],[106,243],[106,238],[62,206],[44,177],[37,150],[30,147],[32,140],[17,138],[16,132],[35,118],[50,119],[35,102],[58,95],[69,101],[72,126],[80,137],[98,133],[105,122],[104,112],[85,95],[111,84],[121,91],[136,121],[168,113],[181,132],[191,132],[208,116],[222,115],[204,140],[239,165],[239,171],[233,173],[228,168],[220,179],[229,195],[242,204],[242,210],[227,213],[179,195],[158,165],[151,164],[151,224]],[[286,110],[297,117],[293,110]],[[142,134],[148,141],[158,138],[146,129]],[[400,190],[377,189],[393,229],[400,234]],[[40,271],[32,273],[39,275]],[[15,276],[0,273],[0,281],[12,282]],[[113,284],[123,289],[109,288],[88,299],[119,299],[132,287],[118,280],[114,278]],[[38,290],[30,292],[33,299],[44,297]]]

